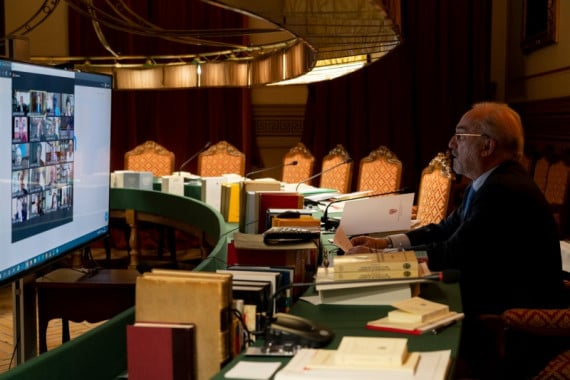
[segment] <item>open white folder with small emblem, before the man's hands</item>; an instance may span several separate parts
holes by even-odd
[[[412,222],[414,193],[348,200],[344,203],[340,227],[347,235],[407,231]]]

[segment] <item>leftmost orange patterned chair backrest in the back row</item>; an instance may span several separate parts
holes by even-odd
[[[155,141],[145,141],[125,153],[126,170],[152,172],[155,177],[174,172],[174,153]]]

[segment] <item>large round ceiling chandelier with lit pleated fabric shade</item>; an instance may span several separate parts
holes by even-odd
[[[124,0],[106,0],[114,13],[93,0],[65,0],[91,19],[97,38],[109,52],[99,57],[30,57],[34,63],[70,63],[76,70],[107,73],[116,89],[255,87],[304,84],[358,70],[400,43],[390,13],[399,0],[201,0],[244,14],[255,25],[246,30],[180,31],[151,24]],[[60,0],[45,0],[34,16],[7,37],[39,25]],[[121,55],[107,42],[101,26],[212,51],[184,55]],[[247,35],[247,46],[220,42],[224,35]]]

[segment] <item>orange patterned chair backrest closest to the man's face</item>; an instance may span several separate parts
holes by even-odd
[[[439,223],[447,216],[454,179],[450,158],[445,153],[438,153],[422,170],[416,216],[418,227]]]

